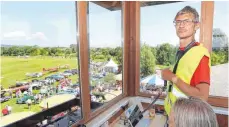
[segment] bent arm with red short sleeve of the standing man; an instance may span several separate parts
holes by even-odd
[[[194,73],[192,85],[189,85],[179,79],[169,69],[162,71],[164,80],[172,81],[186,95],[198,97],[204,100],[209,96],[210,68],[208,67],[209,58],[203,57],[197,70]]]

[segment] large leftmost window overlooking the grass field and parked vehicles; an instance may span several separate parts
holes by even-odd
[[[75,2],[1,4],[1,125],[80,98]],[[49,121],[69,112],[81,119],[78,105]]]

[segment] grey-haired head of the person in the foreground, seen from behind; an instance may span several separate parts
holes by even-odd
[[[169,127],[218,127],[211,106],[198,98],[178,99],[169,116]]]

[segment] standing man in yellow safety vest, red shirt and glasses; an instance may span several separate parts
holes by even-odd
[[[170,82],[164,104],[167,114],[177,98],[194,96],[207,100],[210,85],[209,52],[195,41],[196,30],[200,27],[197,11],[190,6],[184,7],[177,13],[174,24],[180,41],[179,61],[173,71],[164,69],[161,72],[162,79]]]

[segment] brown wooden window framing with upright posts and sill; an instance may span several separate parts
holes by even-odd
[[[140,88],[140,7],[139,1],[122,2],[123,24],[123,93],[96,111],[91,112],[89,95],[89,53],[87,29],[87,1],[77,1],[79,29],[79,62],[81,81],[82,119],[73,126],[87,123],[111,105],[127,96],[151,97],[152,94],[141,93]],[[211,52],[213,29],[214,1],[201,2],[200,42]],[[164,99],[165,96],[161,96]],[[210,96],[208,102],[212,106],[228,108],[228,97]]]

